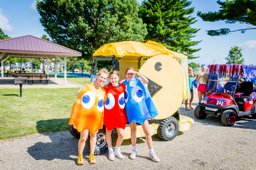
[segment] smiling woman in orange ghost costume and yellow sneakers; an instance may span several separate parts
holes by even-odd
[[[95,164],[94,150],[96,146],[96,135],[98,130],[103,127],[104,119],[104,103],[107,100],[107,93],[102,84],[108,78],[108,71],[101,69],[97,75],[95,82],[90,82],[84,85],[77,97],[76,103],[73,105],[70,116],[69,125],[74,125],[77,131],[80,132],[80,139],[78,142],[78,160],[77,164],[83,164],[83,149],[85,141],[90,132],[90,164]]]

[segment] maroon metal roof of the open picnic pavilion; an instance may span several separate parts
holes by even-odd
[[[82,56],[81,52],[32,35],[0,40],[0,54],[1,53],[21,57],[46,57],[54,55],[67,57]]]

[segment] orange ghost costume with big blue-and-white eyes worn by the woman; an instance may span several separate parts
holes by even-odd
[[[103,127],[104,103],[108,96],[103,87],[98,89],[92,82],[80,90],[70,116],[69,125],[75,125],[78,132],[88,129],[95,133]]]

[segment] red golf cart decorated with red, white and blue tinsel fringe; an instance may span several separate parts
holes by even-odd
[[[256,84],[251,81],[238,82],[239,78],[253,79],[250,66],[238,64],[209,65],[206,74],[209,92],[204,91],[204,98],[194,110],[197,119],[207,115],[221,117],[226,126],[233,126],[237,116],[251,115],[256,118]]]

